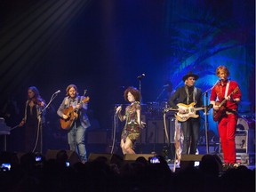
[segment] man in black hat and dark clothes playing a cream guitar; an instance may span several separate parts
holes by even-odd
[[[176,105],[177,103],[189,105],[195,102],[195,108],[203,106],[202,91],[201,89],[196,88],[194,85],[198,77],[199,76],[193,74],[192,72],[188,72],[186,76],[182,77],[185,85],[178,88],[169,100],[171,108],[177,108],[181,115],[186,114],[187,112],[184,110],[184,108],[179,108]],[[196,115],[199,115],[198,111],[196,111]],[[196,154],[200,129],[200,117],[190,117],[187,121],[180,122],[180,126],[184,136],[181,154]]]

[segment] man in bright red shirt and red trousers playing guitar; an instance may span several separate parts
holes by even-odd
[[[241,92],[235,81],[228,80],[229,71],[225,66],[216,69],[216,76],[220,82],[212,88],[210,101],[213,105],[213,114],[219,113],[218,129],[220,143],[223,151],[224,166],[233,166],[236,163],[236,123],[238,102],[241,100]],[[226,101],[225,107],[220,107],[219,101]],[[215,114],[216,115],[216,114]],[[214,116],[213,116],[214,118]]]

